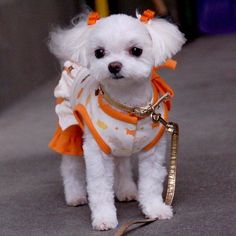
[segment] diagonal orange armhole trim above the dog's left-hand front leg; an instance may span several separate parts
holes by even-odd
[[[110,154],[111,153],[111,148],[104,142],[102,137],[99,135],[99,133],[95,129],[95,127],[94,127],[94,125],[93,125],[93,123],[92,123],[92,121],[91,121],[91,119],[90,119],[90,117],[89,117],[89,115],[86,111],[86,108],[82,104],[79,104],[79,105],[76,106],[75,113],[79,114],[80,117],[83,118],[84,122],[88,126],[90,132],[92,133],[94,139],[96,140],[97,144],[102,149],[102,151],[105,152],[106,154]]]

